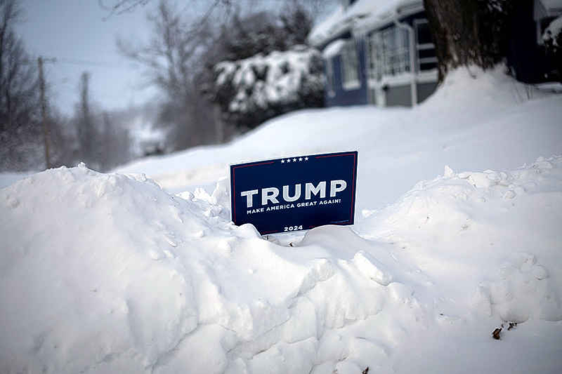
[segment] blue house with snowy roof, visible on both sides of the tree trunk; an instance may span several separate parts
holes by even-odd
[[[516,5],[507,65],[517,79],[549,79],[542,33],[562,0]],[[325,104],[414,106],[437,87],[437,57],[422,0],[340,0],[309,42],[323,53]]]

